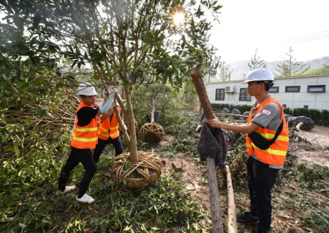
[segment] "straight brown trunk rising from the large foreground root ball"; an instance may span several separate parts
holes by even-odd
[[[132,84],[130,84],[132,85]],[[130,129],[130,161],[139,162],[137,155],[137,139],[135,129],[135,118],[132,110],[132,87],[125,87],[125,100],[127,101],[127,117],[129,118],[129,129]]]

